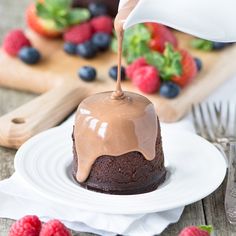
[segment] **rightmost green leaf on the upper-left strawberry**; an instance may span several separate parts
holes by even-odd
[[[81,23],[90,18],[90,12],[86,8],[76,8],[71,10],[67,15],[67,20],[70,25]]]

